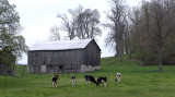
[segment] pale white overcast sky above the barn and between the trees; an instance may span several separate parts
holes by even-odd
[[[109,0],[9,0],[16,5],[16,11],[21,16],[21,24],[24,27],[22,35],[26,40],[26,45],[32,47],[37,40],[47,40],[49,38],[49,29],[54,25],[58,25],[60,20],[56,15],[67,13],[68,9],[75,9],[81,4],[84,9],[97,9],[101,12],[101,22],[105,22],[104,11],[109,10]],[[128,0],[130,5],[137,5],[140,0]],[[103,31],[105,32],[105,31]],[[104,47],[103,33],[98,38],[98,46],[102,49],[102,57],[110,57],[114,54],[109,48]],[[20,63],[27,63],[27,57],[24,54]]]

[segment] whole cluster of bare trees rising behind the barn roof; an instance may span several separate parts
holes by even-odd
[[[79,8],[74,10],[69,9],[68,12],[69,14],[57,15],[57,17],[61,20],[61,26],[57,27],[57,29],[59,32],[67,32],[70,40],[74,38],[85,39],[101,36],[100,12],[97,10],[84,10],[82,5],[79,5]],[[57,34],[51,35],[54,37],[58,36]]]

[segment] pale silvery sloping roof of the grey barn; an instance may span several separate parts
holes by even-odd
[[[84,49],[92,40],[94,39],[37,41],[30,51]]]

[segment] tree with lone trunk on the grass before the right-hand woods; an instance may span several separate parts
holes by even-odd
[[[167,36],[175,32],[174,25],[174,0],[152,0],[151,11],[154,13],[152,15],[152,21],[155,27],[152,29],[155,36],[155,43],[158,44],[158,62],[160,72],[162,72],[162,62],[163,62],[163,45]],[[173,13],[172,13],[173,12]]]

